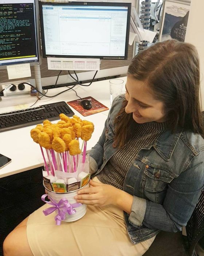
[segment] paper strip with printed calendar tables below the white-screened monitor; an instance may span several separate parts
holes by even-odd
[[[51,70],[100,70],[100,59],[47,58]]]

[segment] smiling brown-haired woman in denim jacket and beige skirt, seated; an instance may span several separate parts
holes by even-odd
[[[91,187],[75,197],[87,214],[56,226],[41,207],[8,235],[5,256],[139,256],[160,230],[180,231],[204,187],[199,83],[190,44],[165,41],[138,54],[90,151]]]

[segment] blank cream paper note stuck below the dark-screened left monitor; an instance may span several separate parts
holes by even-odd
[[[8,79],[16,79],[31,76],[30,63],[7,66]]]

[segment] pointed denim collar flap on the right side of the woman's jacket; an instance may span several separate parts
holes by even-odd
[[[181,136],[181,133],[182,129],[178,129],[175,133],[167,130],[163,132],[153,144],[154,149],[162,158],[164,158],[164,160],[169,161],[172,157],[173,151],[176,147],[178,139]]]

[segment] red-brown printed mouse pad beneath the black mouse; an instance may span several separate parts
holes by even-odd
[[[82,114],[82,116],[90,116],[92,114],[99,113],[109,109],[96,99],[92,98],[91,96],[85,97],[83,99],[88,99],[89,101],[91,101],[91,109],[83,109],[80,104],[81,99],[76,99],[75,101],[68,101],[67,104],[70,105],[72,108],[76,109],[76,111]]]

